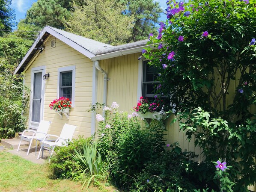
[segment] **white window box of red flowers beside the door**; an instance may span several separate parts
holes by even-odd
[[[66,118],[69,118],[69,110],[71,109],[71,101],[66,97],[60,97],[59,99],[54,99],[49,107],[60,115],[64,114]]]

